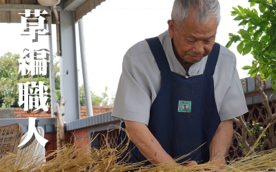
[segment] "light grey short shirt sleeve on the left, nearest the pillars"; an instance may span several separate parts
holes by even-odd
[[[139,61],[125,55],[112,116],[148,125],[150,92]]]

